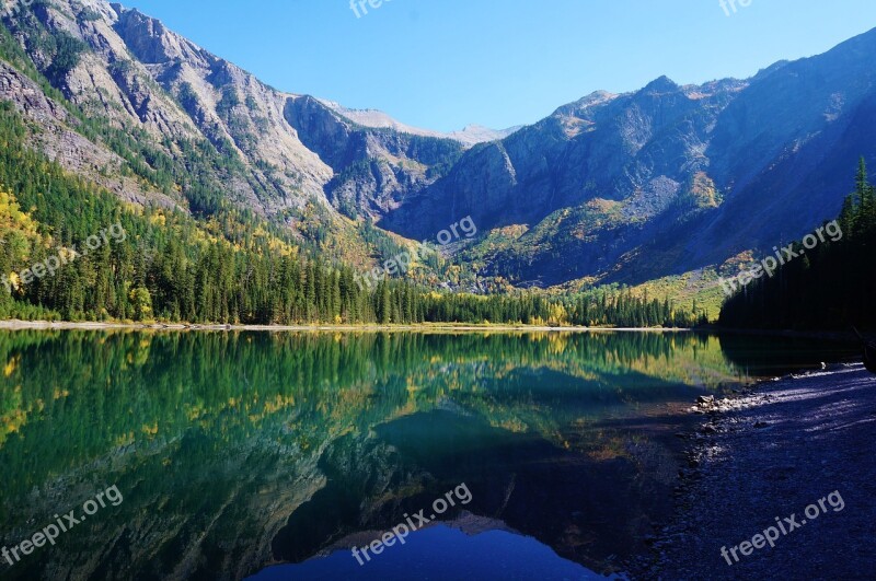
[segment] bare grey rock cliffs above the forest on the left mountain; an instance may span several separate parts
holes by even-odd
[[[267,86],[117,3],[41,0],[5,24],[36,68],[89,115],[141,130],[170,156],[200,141],[237,156],[242,171],[217,181],[229,198],[267,216],[311,201],[327,208],[326,194],[350,216],[387,211],[433,182],[440,175],[433,166],[452,164],[465,147],[357,125],[320,101]],[[73,46],[74,58],[54,70],[59,38]],[[43,45],[48,48],[34,49]],[[342,175],[365,165],[367,179]]]

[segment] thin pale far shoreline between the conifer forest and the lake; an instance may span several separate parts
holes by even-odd
[[[268,332],[268,333],[397,333],[397,332],[538,332],[538,333],[693,333],[690,328],[631,328],[631,327],[552,327],[546,325],[474,325],[453,323],[426,323],[418,325],[212,325],[185,323],[115,323],[64,321],[0,321],[2,330],[210,330],[210,332]]]

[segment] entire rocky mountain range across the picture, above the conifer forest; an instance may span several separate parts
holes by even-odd
[[[848,169],[876,160],[876,31],[747,80],[662,77],[440,133],[278,91],[117,3],[35,0],[2,22],[0,100],[73,175],[203,219],[237,208],[360,267],[471,216],[479,237],[446,254],[472,288],[726,268],[835,216]]]

